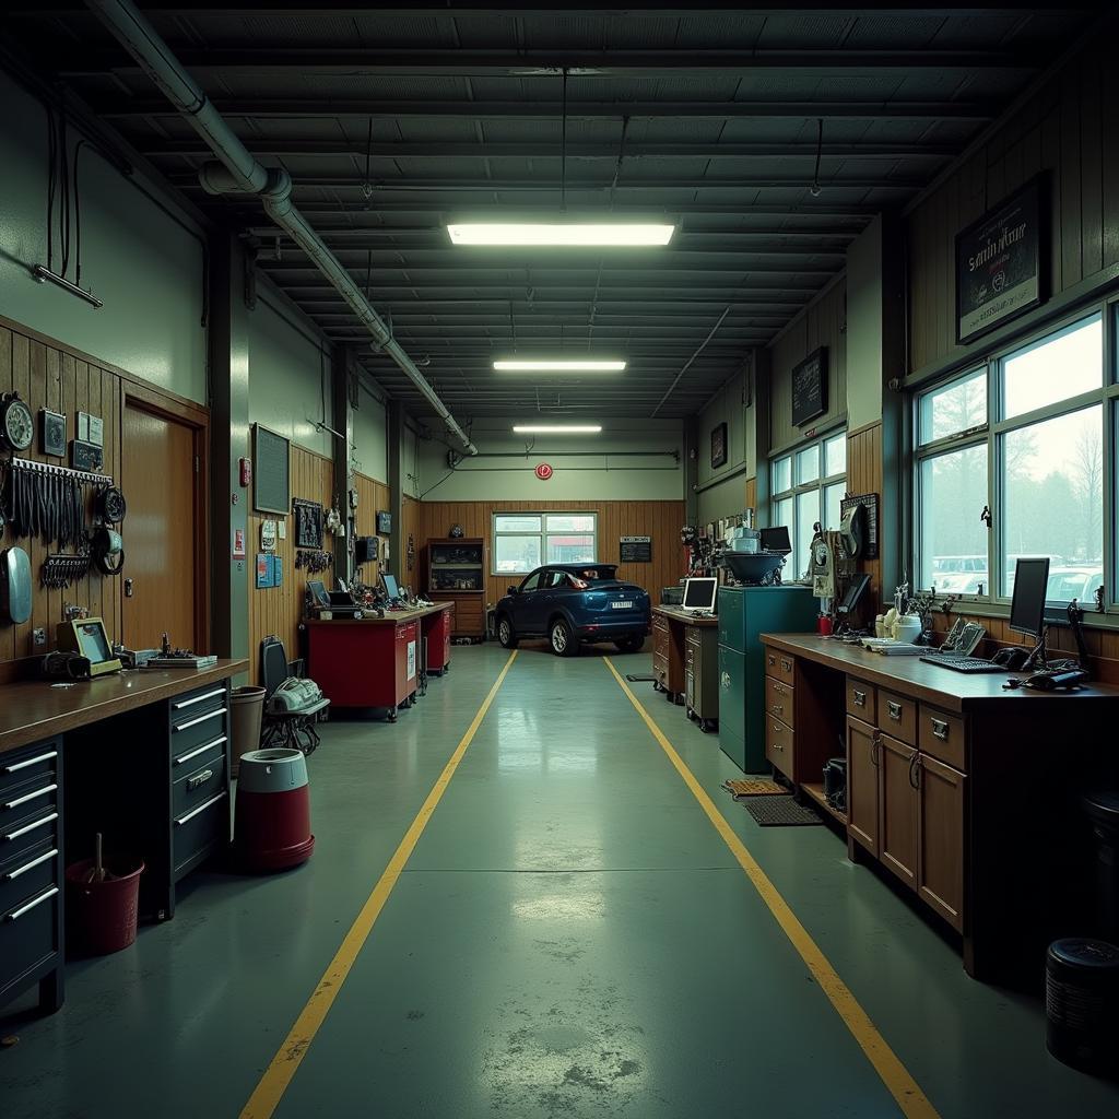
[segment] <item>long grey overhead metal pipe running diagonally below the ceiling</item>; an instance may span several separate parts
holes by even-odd
[[[116,40],[139,63],[144,73],[178,109],[187,123],[219,160],[207,163],[199,181],[210,194],[251,194],[261,198],[264,210],[304,253],[350,305],[380,352],[404,370],[436,415],[446,424],[467,454],[478,448],[451,415],[439,394],[415,363],[393,338],[392,331],[365,298],[349,272],[316,233],[291,200],[291,177],[283,169],[266,168],[242,143],[241,138],[214,107],[201,86],[175,57],[171,48],[130,0],[87,0],[91,11],[112,31]]]

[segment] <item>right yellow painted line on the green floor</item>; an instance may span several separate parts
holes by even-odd
[[[937,1109],[929,1101],[928,1097],[918,1087],[916,1081],[910,1075],[909,1070],[897,1059],[894,1051],[886,1044],[885,1038],[878,1033],[877,1027],[871,1021],[866,1010],[855,999],[847,985],[836,974],[827,957],[817,947],[816,941],[808,934],[805,927],[797,920],[796,914],[789,908],[789,903],[778,893],[777,886],[770,882],[765,872],[754,861],[753,855],[746,850],[745,844],[739,838],[734,829],[723,818],[723,814],[715,807],[714,801],[707,796],[696,775],[688,769],[684,759],[676,752],[673,744],[665,737],[660,727],[653,722],[652,716],[641,706],[640,700],[626,681],[618,675],[610,658],[605,658],[606,667],[613,673],[622,692],[629,696],[629,700],[637,708],[637,713],[645,720],[646,726],[652,736],[660,744],[660,749],[668,755],[668,760],[676,767],[676,772],[684,779],[684,783],[692,790],[692,796],[699,801],[699,807],[707,814],[707,818],[715,825],[715,830],[723,837],[723,841],[731,848],[731,853],[739,861],[739,865],[746,872],[746,876],[753,883],[754,888],[761,894],[762,901],[769,906],[770,912],[777,919],[784,934],[792,942],[792,947],[800,953],[800,958],[808,966],[812,978],[819,984],[820,989],[827,995],[828,1000],[835,1007],[836,1013],[843,1018],[844,1025],[850,1031],[852,1036],[858,1043],[859,1049],[866,1054],[867,1060],[874,1065],[874,1071],[882,1078],[890,1094],[897,1101],[902,1113],[908,1119],[939,1119]]]

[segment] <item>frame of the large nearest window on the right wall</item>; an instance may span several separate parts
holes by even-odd
[[[1003,419],[1005,411],[1005,370],[1007,364],[1023,351],[1046,345],[1063,335],[1099,319],[1101,325],[1101,366],[1100,385],[1087,392],[1052,402],[1023,412],[1010,419]],[[987,536],[987,573],[988,584],[984,594],[963,594],[959,596],[966,604],[968,613],[979,613],[989,617],[1006,618],[1009,615],[1012,595],[1002,593],[1002,564],[1006,554],[1005,529],[1006,507],[1003,500],[1005,482],[1005,462],[1003,440],[1010,433],[1023,431],[1047,421],[1061,419],[1082,412],[1090,407],[1100,407],[1102,438],[1102,568],[1103,568],[1103,614],[1094,612],[1094,602],[1081,602],[1085,610],[1085,621],[1090,623],[1119,623],[1119,602],[1117,602],[1117,585],[1119,585],[1119,568],[1117,568],[1116,533],[1119,530],[1119,509],[1116,508],[1116,495],[1119,493],[1119,480],[1116,477],[1117,445],[1119,445],[1119,370],[1116,365],[1116,339],[1119,331],[1119,293],[1104,300],[1094,300],[1082,304],[1073,311],[1037,327],[1027,333],[1007,339],[1003,345],[991,350],[980,359],[972,358],[958,366],[942,377],[922,383],[911,392],[910,431],[912,432],[912,464],[910,477],[910,516],[909,546],[910,570],[922,570],[922,464],[949,451],[967,446],[986,444],[987,446],[987,507],[990,509],[994,528]],[[930,393],[943,389],[946,386],[962,382],[976,373],[984,373],[987,386],[987,417],[981,424],[976,424],[965,431],[953,433],[928,443],[921,443],[921,402]],[[978,510],[976,510],[978,515]],[[970,510],[965,511],[970,516]],[[928,590],[928,587],[922,587]],[[952,593],[952,592],[949,592]],[[1053,610],[1061,609],[1065,600],[1047,600]]]

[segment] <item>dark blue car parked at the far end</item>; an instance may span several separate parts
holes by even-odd
[[[557,657],[573,657],[589,641],[637,652],[649,633],[649,595],[617,573],[612,563],[537,567],[497,604],[498,640],[516,649],[523,637],[544,637]]]

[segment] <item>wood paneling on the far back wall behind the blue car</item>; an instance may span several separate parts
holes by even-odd
[[[581,513],[599,515],[599,555],[602,563],[617,563],[619,537],[651,536],[652,563],[622,564],[621,579],[643,586],[653,602],[660,601],[660,589],[674,585],[684,574],[683,501],[422,501],[417,556],[419,583],[426,589],[426,555],[421,545],[429,539],[446,536],[451,525],[461,525],[464,535],[481,536],[489,548],[492,567],[491,525],[495,513]],[[486,600],[496,603],[519,575],[491,575],[487,572]]]

